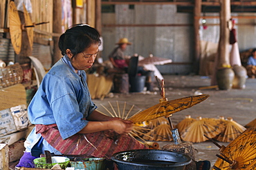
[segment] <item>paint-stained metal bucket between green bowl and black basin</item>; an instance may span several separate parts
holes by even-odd
[[[80,158],[77,161],[71,161],[71,167],[75,170],[105,170],[106,158]]]

